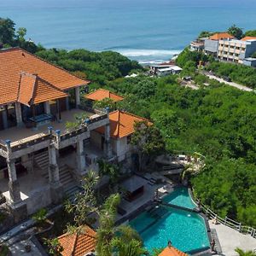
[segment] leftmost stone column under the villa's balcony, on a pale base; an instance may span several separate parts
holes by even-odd
[[[17,180],[15,160],[6,160],[9,174],[9,196],[14,204],[21,201],[20,184]]]

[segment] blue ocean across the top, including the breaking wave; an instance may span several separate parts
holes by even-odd
[[[0,0],[0,17],[47,48],[166,61],[201,31],[256,29],[256,0]]]

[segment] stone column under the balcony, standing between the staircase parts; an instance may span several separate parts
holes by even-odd
[[[52,185],[60,185],[60,173],[57,163],[56,149],[54,145],[49,145],[49,183]]]

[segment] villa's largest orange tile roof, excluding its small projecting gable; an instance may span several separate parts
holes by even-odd
[[[89,83],[20,48],[0,50],[0,63],[0,105],[16,102],[21,72],[37,73],[61,90]]]

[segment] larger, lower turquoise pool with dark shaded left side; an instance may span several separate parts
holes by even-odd
[[[140,234],[149,252],[166,247],[168,240],[187,253],[209,247],[204,219],[195,212],[160,206],[141,213],[130,224]]]

